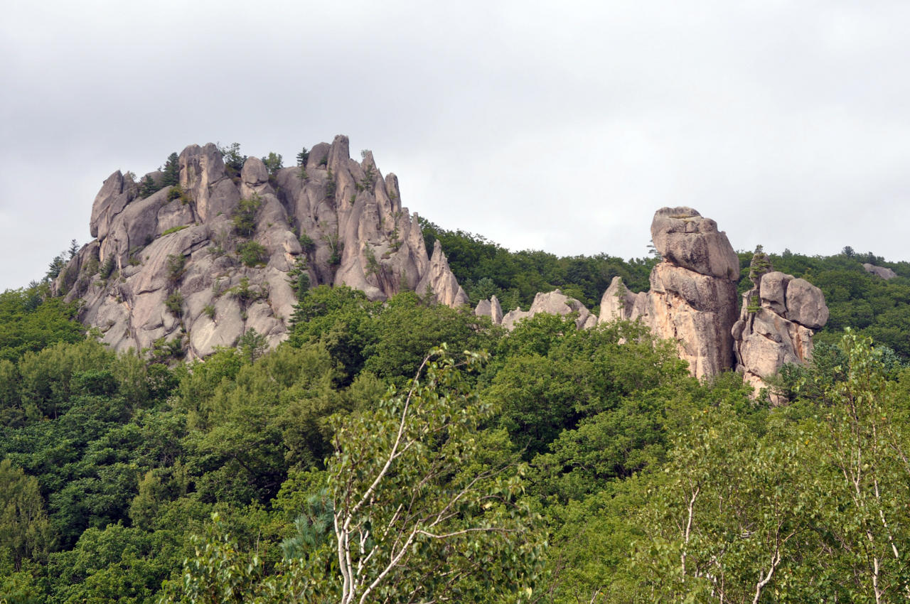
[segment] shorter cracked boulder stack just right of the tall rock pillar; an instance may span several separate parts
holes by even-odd
[[[749,274],[753,287],[743,294],[743,309],[732,330],[736,370],[756,390],[785,363],[811,359],[813,330],[828,320],[822,290],[770,269],[756,250]]]

